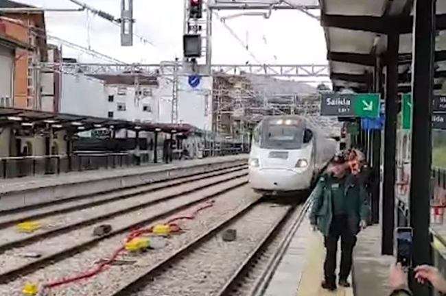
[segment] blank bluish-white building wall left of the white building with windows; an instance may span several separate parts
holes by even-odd
[[[107,117],[104,82],[84,75],[62,74],[60,112]]]

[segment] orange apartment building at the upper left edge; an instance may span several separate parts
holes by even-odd
[[[14,1],[2,0],[0,1],[0,8],[32,7]],[[0,40],[9,45],[8,53],[5,53],[3,49],[1,54],[3,64],[8,69],[13,68],[12,78],[8,78],[12,79],[13,85],[12,98],[8,102],[9,106],[41,110],[40,73],[34,65],[47,60],[43,12],[2,12],[0,16]],[[5,62],[4,57],[11,55],[14,57],[14,62],[12,64],[11,62]]]

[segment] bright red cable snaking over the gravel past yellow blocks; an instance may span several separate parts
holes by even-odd
[[[208,201],[206,204],[204,204],[204,206],[200,206],[200,208],[196,209],[194,212],[192,212],[192,214],[190,214],[189,216],[180,216],[180,217],[174,217],[172,219],[170,219],[169,221],[167,221],[166,225],[175,225],[174,222],[179,221],[179,220],[193,220],[196,218],[197,214],[199,212],[201,212],[204,209],[207,208],[211,208],[211,206],[213,206],[215,204],[215,200],[211,200]],[[128,235],[126,242],[129,242],[130,240],[137,238],[138,236],[141,236],[141,234],[148,234],[151,233],[153,230],[153,227],[148,227],[148,228],[143,228],[143,229],[137,229],[137,230],[133,230],[132,232],[130,232],[130,234]],[[111,264],[113,261],[116,260],[117,256],[119,256],[119,254],[121,253],[121,251],[124,251],[124,247],[119,247],[119,249],[117,249],[113,255],[110,257],[110,259],[99,263],[94,269],[92,269],[91,271],[86,271],[85,273],[81,273],[80,275],[76,275],[73,277],[68,277],[68,278],[64,278],[62,280],[56,280],[54,282],[49,282],[47,284],[43,284],[43,289],[49,289],[49,288],[54,288],[56,286],[61,286],[63,284],[69,284],[71,282],[77,282],[78,280],[82,280],[82,279],[86,279],[89,277],[93,277],[95,275],[97,275],[98,273],[100,273],[101,271],[104,270],[104,267],[106,267],[107,265]]]

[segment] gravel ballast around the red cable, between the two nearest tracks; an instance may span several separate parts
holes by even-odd
[[[221,186],[223,186],[223,184]],[[220,187],[220,189],[221,188],[222,187]],[[159,262],[159,260],[163,260],[173,251],[185,245],[193,238],[196,238],[209,229],[209,227],[212,227],[212,225],[215,225],[215,223],[222,221],[224,217],[230,216],[233,211],[237,210],[237,208],[258,198],[252,194],[246,194],[246,188],[246,186],[237,188],[217,197],[215,199],[215,205],[212,208],[200,212],[195,220],[180,223],[182,227],[187,229],[187,231],[184,234],[174,235],[168,239],[166,238],[166,247],[149,251],[145,256],[119,256],[119,258],[117,258],[119,260],[134,260],[136,262],[132,265],[108,267],[106,271],[99,273],[97,276],[89,280],[82,280],[80,282],[54,288],[50,295],[109,295],[112,291],[115,291],[118,286],[126,284],[130,277],[136,276],[152,264]],[[206,190],[207,193],[209,193],[209,189]],[[194,193],[187,198],[197,199],[197,194],[198,193]],[[176,204],[178,204],[178,202],[179,201],[176,201]],[[185,198],[182,198],[181,202],[186,203]],[[167,207],[166,204],[167,203],[160,204],[159,207],[156,208],[156,212],[165,210],[165,208],[161,209],[161,206]],[[172,204],[174,204],[174,201],[172,201]],[[198,206],[186,210],[185,214],[189,214],[196,208],[198,208]],[[149,214],[150,213],[145,213],[145,215]],[[181,215],[181,213],[178,213],[174,215],[174,217]],[[135,218],[128,217],[128,219],[134,220]],[[92,229],[93,226],[91,227],[91,230]],[[62,260],[49,267],[40,269],[35,273],[25,276],[23,279],[1,285],[0,294],[3,295],[3,293],[7,293],[12,296],[21,295],[21,287],[24,282],[43,283],[48,280],[58,280],[62,277],[78,275],[79,273],[91,269],[98,260],[107,258],[110,254],[113,254],[113,251],[115,251],[119,245],[122,245],[125,238],[126,235],[108,238],[99,243],[94,249],[89,249],[69,259]]]

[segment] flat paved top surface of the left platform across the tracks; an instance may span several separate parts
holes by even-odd
[[[14,179],[0,180],[0,193],[8,193],[15,190],[26,190],[59,184],[78,183],[84,181],[101,180],[110,177],[134,175],[137,173],[150,173],[150,171],[164,171],[174,168],[193,167],[200,164],[222,162],[224,160],[242,160],[248,158],[247,154],[237,156],[219,156],[194,160],[180,160],[170,164],[149,164],[141,167],[127,167],[119,169],[100,169],[91,171],[78,171],[61,173],[60,175],[36,175],[32,177],[18,177]]]

